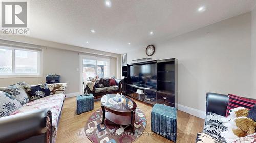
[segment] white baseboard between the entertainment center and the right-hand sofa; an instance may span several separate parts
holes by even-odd
[[[176,104],[176,106],[178,106],[178,110],[180,110],[180,111],[183,111],[183,112],[189,113],[191,115],[194,115],[196,117],[205,119],[205,115],[206,115],[205,111],[187,107],[187,106],[184,106],[181,104]]]

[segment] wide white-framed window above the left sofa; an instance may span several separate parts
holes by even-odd
[[[0,77],[41,75],[41,49],[0,46]]]

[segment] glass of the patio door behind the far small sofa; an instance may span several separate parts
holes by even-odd
[[[94,58],[91,56],[82,57],[82,79],[88,80],[89,77],[108,77],[109,76],[110,59]]]

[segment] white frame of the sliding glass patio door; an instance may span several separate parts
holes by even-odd
[[[99,56],[90,56],[90,55],[82,55],[80,54],[79,56],[79,87],[80,87],[80,94],[82,94],[83,91],[83,80],[82,80],[82,67],[83,67],[83,59],[90,59],[90,60],[96,60],[96,74],[97,74],[97,64],[98,64],[98,60],[99,61],[107,61],[108,62],[108,73],[106,76],[110,76],[110,58],[103,58],[103,57],[99,57]]]

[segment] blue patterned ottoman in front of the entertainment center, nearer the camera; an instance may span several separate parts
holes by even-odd
[[[151,130],[176,142],[177,109],[163,104],[155,104],[151,112]]]

